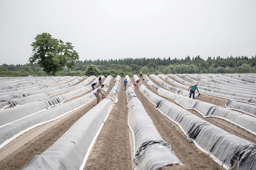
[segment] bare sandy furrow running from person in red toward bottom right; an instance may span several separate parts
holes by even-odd
[[[134,82],[134,78],[131,78],[131,81]],[[148,89],[152,89],[146,81],[142,82]],[[156,110],[156,106],[148,101],[144,93],[140,92],[140,89],[135,89],[135,92],[156,126],[157,131],[172,146],[176,156],[183,164],[194,170],[224,170],[210,156],[201,152],[192,142],[186,139],[184,133],[167,117]],[[154,89],[153,92],[157,93]]]

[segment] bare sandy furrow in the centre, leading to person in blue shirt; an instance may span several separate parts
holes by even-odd
[[[127,124],[129,109],[123,81],[121,78],[118,102],[103,125],[84,169],[132,169]]]

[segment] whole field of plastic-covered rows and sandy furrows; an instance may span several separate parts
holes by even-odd
[[[0,169],[256,169],[256,74],[102,77],[1,77]]]

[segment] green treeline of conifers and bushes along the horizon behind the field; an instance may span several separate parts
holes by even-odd
[[[61,72],[57,72],[56,76],[61,75],[84,75],[87,66],[93,64],[98,67],[100,74],[109,75],[130,75],[138,74],[142,70],[143,74],[184,74],[184,73],[256,73],[256,55],[251,58],[247,56],[238,57],[208,57],[204,60],[199,55],[191,58],[187,56],[185,59],[164,58],[124,58],[109,60],[80,60],[75,63],[73,70],[64,68]],[[27,74],[37,74],[46,76],[37,64],[30,65],[7,65],[0,66],[1,76],[27,76]]]

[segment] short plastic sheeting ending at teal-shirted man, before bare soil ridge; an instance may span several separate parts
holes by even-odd
[[[157,82],[159,82],[164,88],[168,89],[168,90],[171,90],[177,94],[180,94],[182,96],[188,96],[189,97],[189,91],[188,90],[182,90],[182,89],[179,89],[179,88],[176,88],[176,87],[173,87],[167,83],[165,83],[163,80],[161,80],[158,76],[156,76],[155,74],[151,74],[149,75],[150,77],[152,77],[153,79],[155,79]],[[198,94],[195,93],[195,97],[197,97]]]

